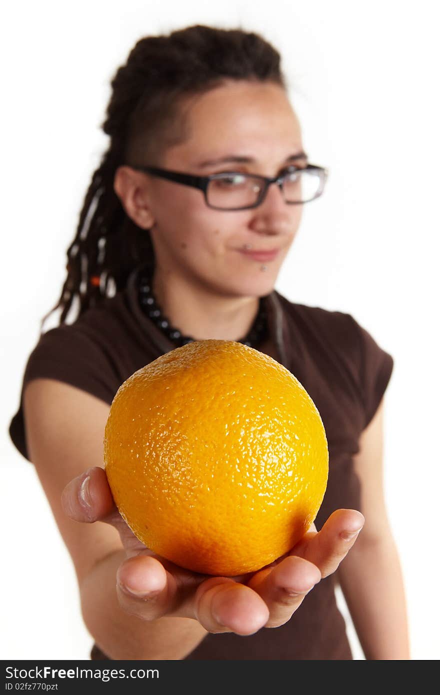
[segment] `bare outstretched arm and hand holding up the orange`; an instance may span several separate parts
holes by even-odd
[[[108,410],[52,379],[24,393],[31,460],[74,562],[85,624],[111,658],[182,659],[206,632],[250,635],[294,620],[355,543],[364,518],[339,509],[291,553],[239,578],[191,573],[154,555],[123,521],[101,468]]]

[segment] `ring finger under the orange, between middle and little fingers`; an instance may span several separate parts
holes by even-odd
[[[275,567],[257,572],[247,586],[266,603],[270,617],[266,628],[278,628],[291,619],[304,597],[321,579],[316,567],[302,557],[285,557]]]

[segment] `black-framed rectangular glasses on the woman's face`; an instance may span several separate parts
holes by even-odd
[[[308,203],[323,193],[328,174],[327,169],[313,164],[300,168],[288,166],[273,178],[234,171],[209,176],[193,176],[158,167],[131,168],[160,179],[199,188],[204,193],[207,206],[215,210],[229,211],[256,208],[265,199],[272,183],[279,186],[287,204]]]

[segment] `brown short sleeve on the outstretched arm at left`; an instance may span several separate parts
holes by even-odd
[[[81,332],[73,325],[61,325],[43,334],[28,357],[19,409],[9,427],[10,439],[28,461],[23,393],[26,384],[38,378],[56,379],[76,386],[108,404],[111,404],[121,383],[111,359],[87,332]]]

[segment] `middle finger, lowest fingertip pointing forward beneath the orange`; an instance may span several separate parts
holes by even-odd
[[[193,617],[209,632],[252,635],[266,625],[269,611],[250,587],[231,578],[214,577],[197,589]]]

